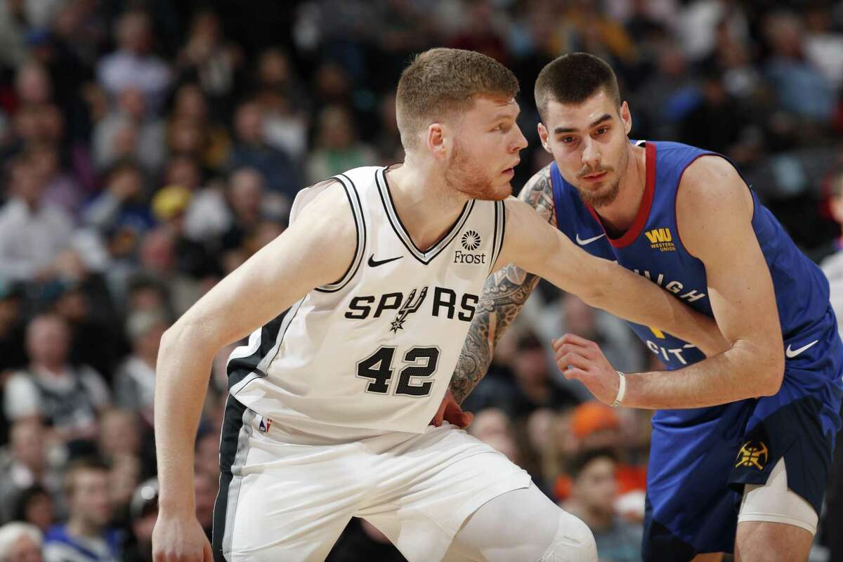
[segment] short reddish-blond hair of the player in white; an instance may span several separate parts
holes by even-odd
[[[442,47],[424,51],[401,72],[395,93],[401,144],[410,150],[427,126],[470,110],[478,96],[516,94],[518,78],[491,56]]]

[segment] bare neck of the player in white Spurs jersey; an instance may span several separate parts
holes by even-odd
[[[445,182],[432,163],[407,157],[399,168],[387,170],[395,212],[420,249],[428,249],[448,231],[462,212],[467,195]]]

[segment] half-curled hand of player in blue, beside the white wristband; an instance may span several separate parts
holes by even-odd
[[[612,367],[599,345],[578,335],[566,334],[553,340],[556,366],[567,379],[577,379],[604,404],[615,402],[620,375]]]

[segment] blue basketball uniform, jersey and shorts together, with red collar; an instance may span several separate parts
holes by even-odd
[[[644,195],[631,228],[609,238],[596,212],[550,165],[556,224],[590,254],[617,260],[713,316],[706,268],[682,245],[676,224],[679,180],[699,148],[647,142]],[[709,408],[662,409],[652,419],[642,557],[685,562],[701,552],[731,552],[744,484],[764,484],[780,458],[787,484],[819,512],[834,436],[840,428],[843,342],[819,267],[797,249],[752,194],[752,227],[770,269],[785,345],[778,393]],[[630,295],[635,298],[635,295]],[[630,324],[668,369],[705,356],[656,327]],[[742,373],[753,377],[755,373]],[[752,462],[752,452],[758,462]],[[763,457],[762,457],[763,455]]]

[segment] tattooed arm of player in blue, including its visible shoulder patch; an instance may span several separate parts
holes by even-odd
[[[547,222],[556,226],[550,166],[535,174],[521,190],[518,198],[529,203]],[[451,393],[462,404],[477,383],[486,376],[495,345],[524,308],[524,302],[539,283],[539,277],[514,264],[493,273],[483,286],[483,295],[471,321],[463,351],[459,355]]]

